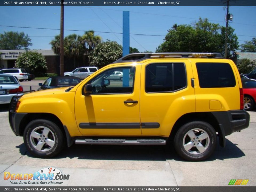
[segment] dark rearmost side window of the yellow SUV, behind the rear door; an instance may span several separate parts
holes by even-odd
[[[201,88],[234,87],[235,76],[229,63],[196,63]]]

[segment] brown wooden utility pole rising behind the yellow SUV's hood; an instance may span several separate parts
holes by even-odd
[[[64,0],[62,0],[62,3]],[[64,3],[63,3],[64,4]],[[60,53],[59,53],[59,71],[64,76],[64,5],[61,5],[61,34],[60,34]]]

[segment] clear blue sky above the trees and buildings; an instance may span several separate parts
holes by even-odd
[[[130,46],[139,51],[155,52],[175,23],[191,24],[199,17],[225,26],[224,6],[65,6],[64,29],[122,33],[122,11],[130,11],[130,33],[162,36],[130,36]],[[256,37],[256,7],[231,6],[234,15],[230,26],[238,35],[239,44]],[[60,6],[0,6],[0,25],[60,28]],[[0,27],[4,31],[24,32],[30,36],[30,49],[51,49],[49,42],[59,30]],[[82,31],[64,31],[64,36]],[[122,45],[122,34],[95,33]],[[193,41],[193,39],[191,39]]]

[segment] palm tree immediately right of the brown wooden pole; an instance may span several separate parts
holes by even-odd
[[[76,58],[82,56],[85,52],[85,46],[80,35],[71,34],[64,39],[64,55],[74,58],[74,68],[76,67]]]

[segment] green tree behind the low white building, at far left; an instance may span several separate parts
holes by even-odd
[[[31,39],[23,32],[18,33],[14,31],[4,32],[0,34],[0,49],[28,49],[31,46]]]

